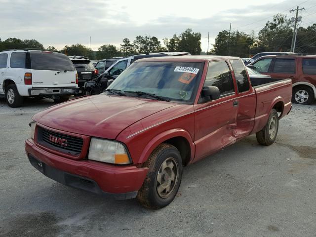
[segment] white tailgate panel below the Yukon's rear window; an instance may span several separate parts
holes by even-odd
[[[33,87],[76,86],[76,71],[31,70]]]

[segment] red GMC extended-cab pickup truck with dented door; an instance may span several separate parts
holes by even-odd
[[[291,96],[290,79],[252,87],[237,57],[141,59],[104,93],[36,114],[26,154],[62,184],[160,208],[183,166],[254,133],[271,145]]]

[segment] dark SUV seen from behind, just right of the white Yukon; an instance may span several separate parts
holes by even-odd
[[[84,82],[98,76],[99,72],[95,69],[91,61],[84,56],[69,56],[76,67],[78,73],[78,86],[82,89]]]

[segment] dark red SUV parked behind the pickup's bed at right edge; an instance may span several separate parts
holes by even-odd
[[[264,56],[249,65],[272,78],[292,79],[293,103],[309,105],[316,98],[316,54]]]

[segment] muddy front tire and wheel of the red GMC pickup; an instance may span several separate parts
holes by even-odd
[[[137,194],[138,201],[151,209],[168,205],[176,196],[182,178],[182,159],[178,149],[162,143],[144,166],[149,171]]]

